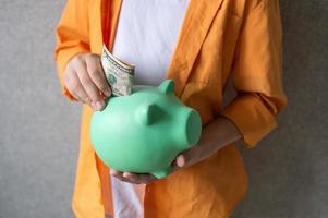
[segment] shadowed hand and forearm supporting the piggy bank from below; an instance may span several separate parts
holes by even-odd
[[[199,142],[192,148],[182,152],[172,161],[172,172],[199,162],[215,154],[223,146],[233,143],[242,137],[238,128],[227,118],[219,117],[209,123],[202,132]],[[121,181],[148,184],[157,179],[151,174],[137,174],[131,172],[120,172],[110,169],[110,174]]]

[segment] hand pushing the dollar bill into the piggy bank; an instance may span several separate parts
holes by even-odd
[[[64,85],[77,100],[89,105],[94,110],[105,108],[105,96],[111,95],[100,57],[95,53],[78,53],[66,64]]]

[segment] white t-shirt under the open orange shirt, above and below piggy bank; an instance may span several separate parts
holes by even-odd
[[[112,53],[135,65],[135,84],[165,80],[189,0],[123,0]],[[145,185],[111,175],[116,218],[144,216]]]

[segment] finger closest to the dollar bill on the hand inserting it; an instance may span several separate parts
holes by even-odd
[[[96,56],[93,57],[94,58],[86,59],[88,74],[92,81],[99,88],[99,90],[101,90],[107,97],[109,97],[111,95],[111,89],[107,83],[100,60],[99,58],[96,58]]]

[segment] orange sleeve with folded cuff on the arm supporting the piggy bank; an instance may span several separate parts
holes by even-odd
[[[286,106],[282,89],[282,29],[279,0],[259,1],[246,12],[231,72],[236,97],[222,116],[240,130],[247,147],[277,126]]]

